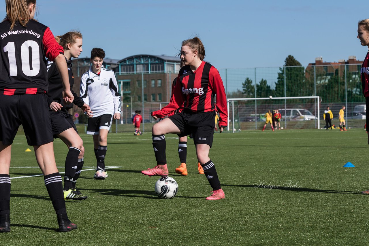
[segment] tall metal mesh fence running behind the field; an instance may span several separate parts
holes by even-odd
[[[345,117],[350,119],[350,127],[363,127],[365,111],[355,111],[355,106],[365,104],[365,98],[362,95],[362,85],[360,79],[361,64],[331,64],[318,66],[282,66],[282,67],[255,67],[248,69],[219,69],[222,77],[227,98],[263,98],[263,97],[320,97],[321,126],[325,125],[323,121],[323,112],[327,106],[331,107],[335,116],[338,116],[342,105],[346,106]],[[135,76],[135,77],[134,77]],[[164,100],[169,100],[170,88],[174,73],[136,73],[119,74],[118,86],[122,95],[122,119],[117,121],[117,131],[132,131],[128,126],[131,124],[131,118],[135,110],[141,110],[144,122],[142,129],[145,132],[151,131],[152,124],[155,121],[150,113],[163,106]],[[78,80],[77,80],[78,81]],[[78,86],[76,84],[76,86]],[[255,102],[238,102],[237,118],[238,123],[231,127],[236,129],[255,129],[254,124],[244,124],[244,117],[251,117],[256,114],[265,114],[261,111],[267,109],[284,108],[284,100],[258,100]],[[302,99],[289,100],[288,108],[307,109],[316,115],[311,102]],[[315,104],[314,104],[315,105]],[[249,115],[242,115],[243,108]],[[254,110],[252,109],[254,107]],[[309,108],[312,107],[312,108]],[[246,112],[244,110],[244,112]],[[77,110],[75,112],[78,112]],[[75,113],[74,112],[74,113]],[[358,115],[360,113],[361,115]],[[230,114],[235,114],[230,112]],[[260,117],[262,119],[262,117]],[[335,119],[338,119],[338,117]],[[81,116],[80,121],[85,121]],[[230,122],[232,124],[233,122]],[[247,122],[246,122],[247,123]],[[290,126],[292,126],[291,122]],[[260,123],[261,125],[263,122]],[[250,127],[248,126],[250,125]],[[257,126],[258,124],[256,124]],[[297,122],[290,128],[316,128],[316,122]],[[258,127],[256,127],[258,128]],[[288,126],[287,126],[288,128]],[[141,129],[141,130],[142,130]],[[114,127],[113,127],[114,132]]]

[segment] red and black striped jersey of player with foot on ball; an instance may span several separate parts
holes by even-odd
[[[179,70],[170,103],[152,112],[152,115],[162,118],[181,107],[194,113],[214,111],[216,107],[220,114],[219,125],[227,126],[227,97],[223,81],[210,63],[203,61],[195,71],[190,66],[183,66]]]

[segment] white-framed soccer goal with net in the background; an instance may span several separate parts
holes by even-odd
[[[262,129],[265,114],[279,110],[281,129],[320,129],[320,97],[228,98],[228,131]],[[277,124],[277,128],[279,125]],[[268,124],[266,129],[270,129]]]

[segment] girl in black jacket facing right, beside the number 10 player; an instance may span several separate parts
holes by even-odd
[[[77,31],[67,32],[62,36],[56,36],[56,41],[63,47],[65,60],[68,66],[69,85],[74,96],[73,103],[82,108],[90,116],[90,107],[72,90],[74,84],[72,60],[78,58],[82,52],[82,34]],[[65,159],[64,175],[64,198],[65,200],[85,200],[83,195],[76,189],[76,181],[83,167],[83,155],[85,148],[83,141],[78,135],[76,125],[73,122],[73,116],[68,114],[68,110],[73,104],[65,105],[62,100],[62,82],[55,62],[46,60],[48,67],[49,87],[48,105],[52,125],[52,134],[54,138],[60,138],[68,146],[68,154]]]

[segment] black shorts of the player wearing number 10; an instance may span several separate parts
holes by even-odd
[[[28,145],[39,146],[54,140],[45,94],[0,94],[0,141],[3,145],[13,143],[20,125],[23,125]]]

